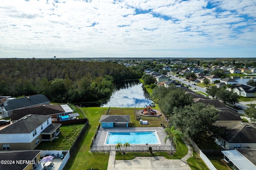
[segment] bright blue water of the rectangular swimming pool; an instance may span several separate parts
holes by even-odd
[[[158,136],[155,131],[121,131],[108,132],[106,144],[159,144]]]

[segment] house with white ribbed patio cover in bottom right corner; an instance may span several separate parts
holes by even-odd
[[[222,150],[224,160],[236,170],[256,170],[255,149]]]

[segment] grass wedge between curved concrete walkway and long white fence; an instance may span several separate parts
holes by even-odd
[[[194,150],[193,150],[193,157],[190,157],[187,160],[187,162],[191,170],[208,170],[209,169],[204,163],[204,161],[200,158],[200,156],[198,156],[198,154],[196,154]]]

